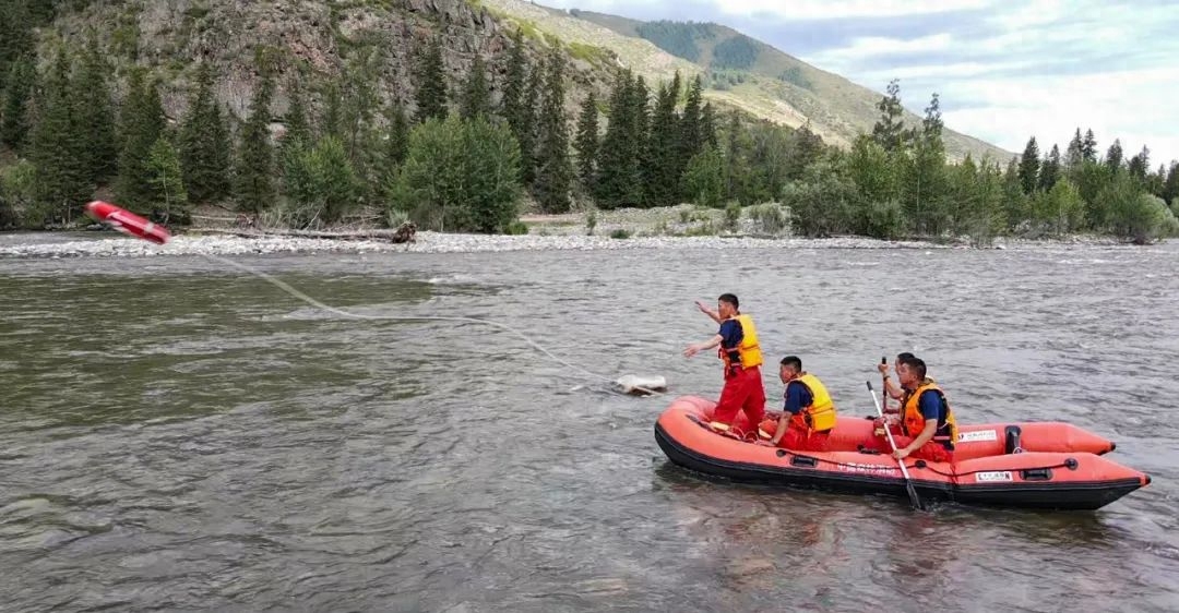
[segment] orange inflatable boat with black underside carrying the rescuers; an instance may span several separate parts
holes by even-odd
[[[684,396],[659,416],[656,441],[672,462],[735,481],[905,495],[896,460],[859,448],[871,437],[870,420],[841,416],[831,433],[832,450],[796,453],[713,431],[707,426],[713,407]],[[750,431],[743,420],[738,415],[735,429]],[[960,426],[954,462],[904,462],[923,500],[1096,509],[1151,482],[1101,456],[1113,449],[1113,442],[1068,423]]]

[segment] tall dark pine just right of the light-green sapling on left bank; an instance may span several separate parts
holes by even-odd
[[[209,62],[197,72],[197,90],[180,124],[179,156],[184,183],[193,202],[225,198],[230,191],[230,137],[213,97],[213,68]],[[292,103],[294,104],[294,103]]]

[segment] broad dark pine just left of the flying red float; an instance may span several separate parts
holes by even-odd
[[[32,127],[29,159],[35,166],[37,199],[50,219],[68,223],[93,193],[73,98],[70,61],[59,52],[45,75]]]

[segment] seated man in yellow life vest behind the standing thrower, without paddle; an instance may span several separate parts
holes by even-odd
[[[826,451],[836,415],[826,385],[803,371],[803,361],[796,356],[782,358],[778,376],[786,384],[782,417],[762,422],[758,434],[786,449]]]

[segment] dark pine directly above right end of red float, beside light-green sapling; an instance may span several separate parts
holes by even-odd
[[[151,147],[164,133],[164,107],[154,81],[147,83],[145,71],[131,73],[127,95],[119,116],[119,173],[114,193],[124,206],[140,212],[151,207],[151,173],[147,158]]]

